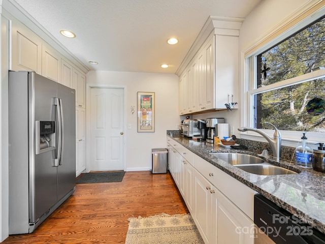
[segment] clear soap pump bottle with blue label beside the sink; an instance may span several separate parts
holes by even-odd
[[[304,168],[313,167],[313,150],[307,144],[306,132],[303,132],[301,142],[296,148],[296,164]]]

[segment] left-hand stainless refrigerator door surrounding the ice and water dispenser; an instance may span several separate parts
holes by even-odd
[[[36,121],[54,121],[56,118],[56,82],[31,72],[28,94],[29,222],[34,223],[57,202],[56,150],[36,154],[36,134],[39,134]]]

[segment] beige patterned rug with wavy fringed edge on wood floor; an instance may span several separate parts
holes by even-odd
[[[190,214],[129,218],[125,244],[204,244]]]

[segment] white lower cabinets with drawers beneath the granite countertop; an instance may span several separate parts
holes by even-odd
[[[174,145],[178,151],[173,147]],[[193,161],[189,163],[179,153],[187,148],[179,143],[169,141],[168,147],[170,172],[204,242],[206,244],[253,244],[254,233],[248,231],[253,229],[250,210],[253,206],[248,205],[252,204],[254,191],[215,166],[211,167],[209,162],[196,155],[190,156]],[[230,184],[229,187],[233,187],[231,191],[218,184],[215,180],[217,178],[223,179],[222,185]],[[243,210],[236,205],[237,203],[234,204],[238,201],[234,197],[234,191],[241,196],[238,205]],[[228,192],[229,196],[227,196]],[[246,195],[242,196],[242,192]]]

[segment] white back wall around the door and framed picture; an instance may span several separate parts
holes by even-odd
[[[125,170],[150,170],[151,148],[166,148],[166,131],[178,130],[178,76],[162,73],[90,71],[87,74],[87,84],[125,86]],[[137,132],[137,92],[155,93],[154,133]],[[135,106],[134,114],[131,113],[131,106]],[[89,111],[86,111],[87,117],[91,116]],[[128,124],[131,124],[132,129],[127,129]]]

